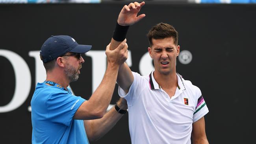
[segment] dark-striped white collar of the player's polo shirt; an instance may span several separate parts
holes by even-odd
[[[156,82],[156,79],[154,78],[154,73],[155,70],[153,70],[150,74],[149,74],[149,87],[150,89],[161,89],[160,85],[158,85],[158,83]],[[182,78],[182,76],[178,73],[176,73],[177,79],[178,79],[178,89],[181,90],[186,90],[185,85],[184,85],[184,79]]]

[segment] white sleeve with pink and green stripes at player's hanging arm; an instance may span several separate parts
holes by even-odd
[[[206,115],[209,110],[206,105],[206,102],[202,96],[201,90],[197,87],[197,101],[195,106],[195,112],[193,114],[193,123],[202,118],[204,115]]]

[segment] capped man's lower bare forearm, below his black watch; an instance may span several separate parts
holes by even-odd
[[[124,114],[120,114],[112,107],[102,118],[90,120],[91,124],[85,127],[87,137],[90,141],[96,141],[103,137],[115,124],[120,120]]]

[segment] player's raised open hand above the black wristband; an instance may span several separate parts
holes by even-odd
[[[144,5],[145,5],[145,2],[141,2],[141,3],[134,2],[134,3],[130,3],[128,6],[125,5],[122,8],[121,12],[119,13],[119,16],[117,19],[118,24],[122,26],[131,26],[136,22],[138,22],[139,20],[141,20],[142,18],[144,18],[146,16],[145,14],[141,14],[137,16],[139,11],[141,10],[141,7]]]

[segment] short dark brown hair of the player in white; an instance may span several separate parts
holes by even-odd
[[[165,39],[167,37],[173,37],[174,43],[178,45],[178,32],[173,26],[165,24],[163,22],[153,26],[147,34],[150,46],[152,46],[152,39]]]

